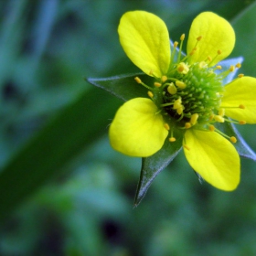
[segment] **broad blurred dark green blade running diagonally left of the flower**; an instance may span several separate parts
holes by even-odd
[[[0,219],[106,133],[119,104],[104,91],[86,91],[17,152],[0,173]]]

